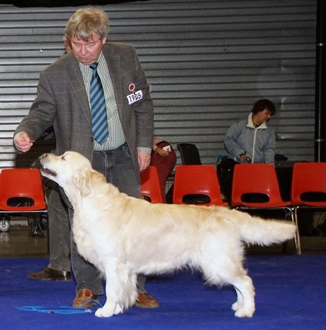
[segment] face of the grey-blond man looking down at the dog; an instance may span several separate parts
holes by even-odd
[[[97,33],[93,33],[89,41],[71,37],[71,48],[75,58],[85,65],[91,65],[98,60],[106,37],[100,39]]]

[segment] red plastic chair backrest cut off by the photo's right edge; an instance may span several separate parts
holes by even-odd
[[[304,194],[309,197],[305,198]],[[292,173],[291,204],[324,207],[325,196],[326,163],[295,163]],[[323,201],[318,197],[323,197]]]

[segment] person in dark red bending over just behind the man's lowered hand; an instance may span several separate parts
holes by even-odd
[[[154,136],[150,165],[157,168],[159,184],[164,202],[166,202],[165,184],[168,176],[173,171],[176,161],[177,156],[171,144],[159,137]]]

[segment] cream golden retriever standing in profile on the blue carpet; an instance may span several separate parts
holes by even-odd
[[[138,273],[184,266],[201,270],[209,284],[232,285],[235,316],[252,317],[255,291],[242,266],[243,242],[268,245],[294,237],[295,226],[285,221],[224,207],[151,204],[129,197],[74,151],[45,154],[41,164],[42,174],[71,201],[78,252],[106,278],[106,302],[95,312],[98,317],[122,313],[135,303]]]

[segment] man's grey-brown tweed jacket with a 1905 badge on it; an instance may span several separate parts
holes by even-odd
[[[152,147],[153,105],[145,73],[132,45],[107,42],[102,49],[111,75],[119,118],[139,176],[137,147]],[[128,105],[129,85],[142,90],[143,98]],[[93,136],[89,101],[78,61],[70,52],[40,73],[37,97],[15,134],[27,133],[37,140],[53,125],[56,154],[74,150],[92,161]],[[140,181],[140,179],[139,179]]]

